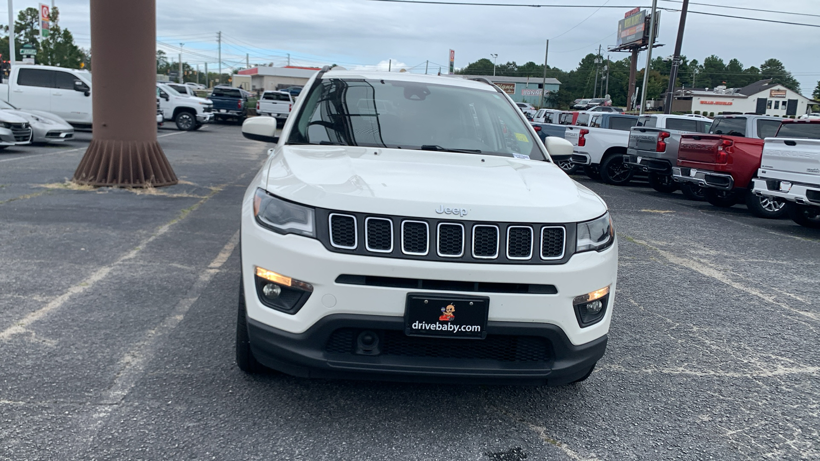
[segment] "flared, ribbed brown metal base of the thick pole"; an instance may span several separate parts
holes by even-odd
[[[175,185],[179,180],[157,140],[92,139],[74,172],[74,182],[112,187],[157,187]]]

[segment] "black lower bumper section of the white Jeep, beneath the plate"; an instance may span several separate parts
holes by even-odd
[[[446,354],[435,352],[414,356],[406,348],[408,337],[403,336],[403,330],[402,317],[374,315],[331,314],[298,334],[248,319],[253,356],[267,367],[298,377],[562,386],[589,372],[604,356],[607,345],[607,335],[572,345],[558,326],[489,322],[485,340],[425,338],[425,344],[435,351],[446,351],[476,341],[526,337],[536,348],[546,345],[539,351],[544,360],[528,359],[533,353],[524,350],[506,354],[506,361],[442,357]],[[356,354],[354,343],[359,331],[376,332],[382,353]]]

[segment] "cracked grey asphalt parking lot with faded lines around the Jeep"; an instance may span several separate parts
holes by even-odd
[[[577,176],[621,252],[587,381],[249,377],[239,202],[266,146],[160,135],[162,189],[67,183],[88,133],[0,152],[0,459],[820,458],[817,230]]]

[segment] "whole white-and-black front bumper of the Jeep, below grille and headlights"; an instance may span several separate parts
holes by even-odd
[[[252,206],[253,195],[246,196],[241,231],[243,290],[253,352],[269,367],[301,376],[347,376],[355,372],[364,377],[377,375],[378,379],[406,380],[412,375],[426,381],[432,377],[482,377],[490,381],[520,377],[558,385],[583,376],[604,354],[616,289],[617,241],[603,252],[576,253],[567,263],[555,265],[379,258],[330,252],[319,240],[301,235],[280,235],[262,228],[253,218]],[[255,267],[307,282],[312,285],[312,294],[294,314],[268,308],[257,294]],[[344,274],[554,285],[557,293],[553,294],[430,291],[436,295],[489,297],[488,337],[540,336],[549,345],[549,359],[520,364],[476,362],[472,358],[356,354],[335,357],[326,352],[326,341],[333,331],[348,327],[371,328],[379,334],[398,332],[403,335],[408,292],[427,291],[387,285],[354,285],[338,279]],[[572,305],[573,299],[607,286],[611,287],[611,294],[604,317],[600,322],[582,328]],[[444,341],[458,341],[458,344],[467,344],[464,343],[467,341],[477,345],[485,340]]]

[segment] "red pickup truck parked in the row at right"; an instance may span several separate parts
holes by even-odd
[[[677,167],[672,176],[681,183],[705,188],[706,200],[716,207],[745,201],[755,216],[779,218],[786,203],[752,193],[763,155],[763,138],[777,133],[782,119],[773,116],[717,116],[706,135],[681,135]]]

